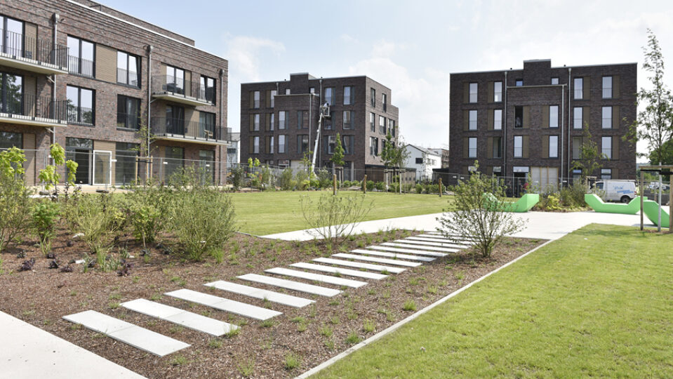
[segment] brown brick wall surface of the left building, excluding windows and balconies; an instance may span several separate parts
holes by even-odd
[[[39,95],[51,97],[55,91],[58,100],[65,100],[67,86],[79,86],[94,91],[94,118],[93,126],[68,124],[56,128],[56,142],[66,145],[66,138],[86,138],[94,140],[96,145],[110,147],[115,142],[138,143],[138,135],[134,131],[117,128],[118,95],[127,95],[140,99],[140,115],[142,123],[147,125],[149,100],[149,114],[152,117],[166,117],[167,105],[179,105],[185,108],[185,119],[198,112],[215,114],[215,128],[227,126],[227,81],[228,62],[211,53],[194,47],[194,41],[161,27],[149,24],[130,15],[102,6],[88,0],[78,0],[76,3],[64,0],[6,0],[0,3],[0,14],[25,22],[26,25],[36,25],[39,39],[51,41],[53,39],[54,13],[60,15],[58,22],[57,44],[67,46],[67,36],[73,36],[95,44],[94,77],[85,77],[77,74],[55,75],[55,84],[51,76],[36,72],[22,72],[13,67],[0,65],[1,72],[22,74],[25,77],[36,79],[36,88]],[[148,73],[149,53],[147,46],[152,46],[151,72]],[[111,52],[108,58],[102,52]],[[126,86],[116,83],[116,51],[123,51],[140,58],[140,86]],[[112,61],[114,60],[114,61]],[[185,70],[185,77],[192,81],[199,81],[201,75],[215,79],[215,101],[204,105],[185,105],[171,100],[153,98],[148,92],[152,81],[166,75],[165,66],[171,65]],[[114,70],[114,71],[111,71]],[[154,87],[154,84],[152,85]],[[151,122],[151,121],[150,121]],[[35,135],[35,146],[23,146],[25,149],[48,149],[51,143],[51,132],[48,128],[35,126],[20,126],[6,121],[0,123],[0,131],[18,131]],[[226,138],[225,133],[220,135]],[[152,144],[152,154],[155,158],[164,157],[166,146],[184,148],[185,159],[199,159],[199,151],[214,152],[215,182],[223,182],[226,172],[226,145],[223,142],[201,143],[199,141],[164,140],[157,138]],[[114,159],[114,151],[112,151]],[[114,165],[114,164],[113,164]],[[155,167],[154,171],[157,171]],[[113,179],[114,180],[114,179]]]

